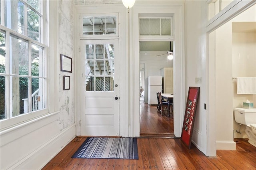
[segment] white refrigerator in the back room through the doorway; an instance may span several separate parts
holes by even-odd
[[[156,92],[162,93],[162,76],[149,76],[148,77],[148,104],[157,105]]]

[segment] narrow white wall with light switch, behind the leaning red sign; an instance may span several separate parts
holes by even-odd
[[[206,34],[204,32],[204,1],[186,1],[185,2],[185,56],[186,56],[186,98],[189,87],[200,87],[199,103],[197,105],[196,119],[194,120],[194,129],[192,142],[204,154],[206,150]],[[196,77],[202,78],[202,83],[196,83]],[[208,107],[208,106],[207,106]]]

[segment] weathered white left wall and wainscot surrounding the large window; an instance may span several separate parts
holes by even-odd
[[[55,28],[50,27],[50,35],[56,36],[49,51],[50,63],[56,61],[55,77],[58,91],[54,91],[57,107],[50,115],[34,119],[1,131],[1,164],[0,169],[41,169],[68,142],[74,138],[74,72],[60,71],[60,53],[73,56],[73,1],[51,1],[54,9],[50,20]],[[51,7],[50,7],[51,8]],[[58,34],[58,35],[57,35]],[[55,43],[54,43],[55,42]],[[54,49],[52,49],[54,48]],[[73,65],[74,68],[74,65]],[[52,69],[51,69],[52,70]],[[71,76],[70,90],[63,91],[63,75]],[[50,87],[54,88],[54,87]],[[50,103],[52,105],[52,103]],[[32,113],[31,113],[32,114]]]

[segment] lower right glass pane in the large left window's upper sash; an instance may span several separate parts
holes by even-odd
[[[28,8],[28,37],[40,41],[40,16]]]

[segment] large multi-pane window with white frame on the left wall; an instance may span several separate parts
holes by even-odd
[[[48,113],[46,0],[1,0],[1,128]]]

